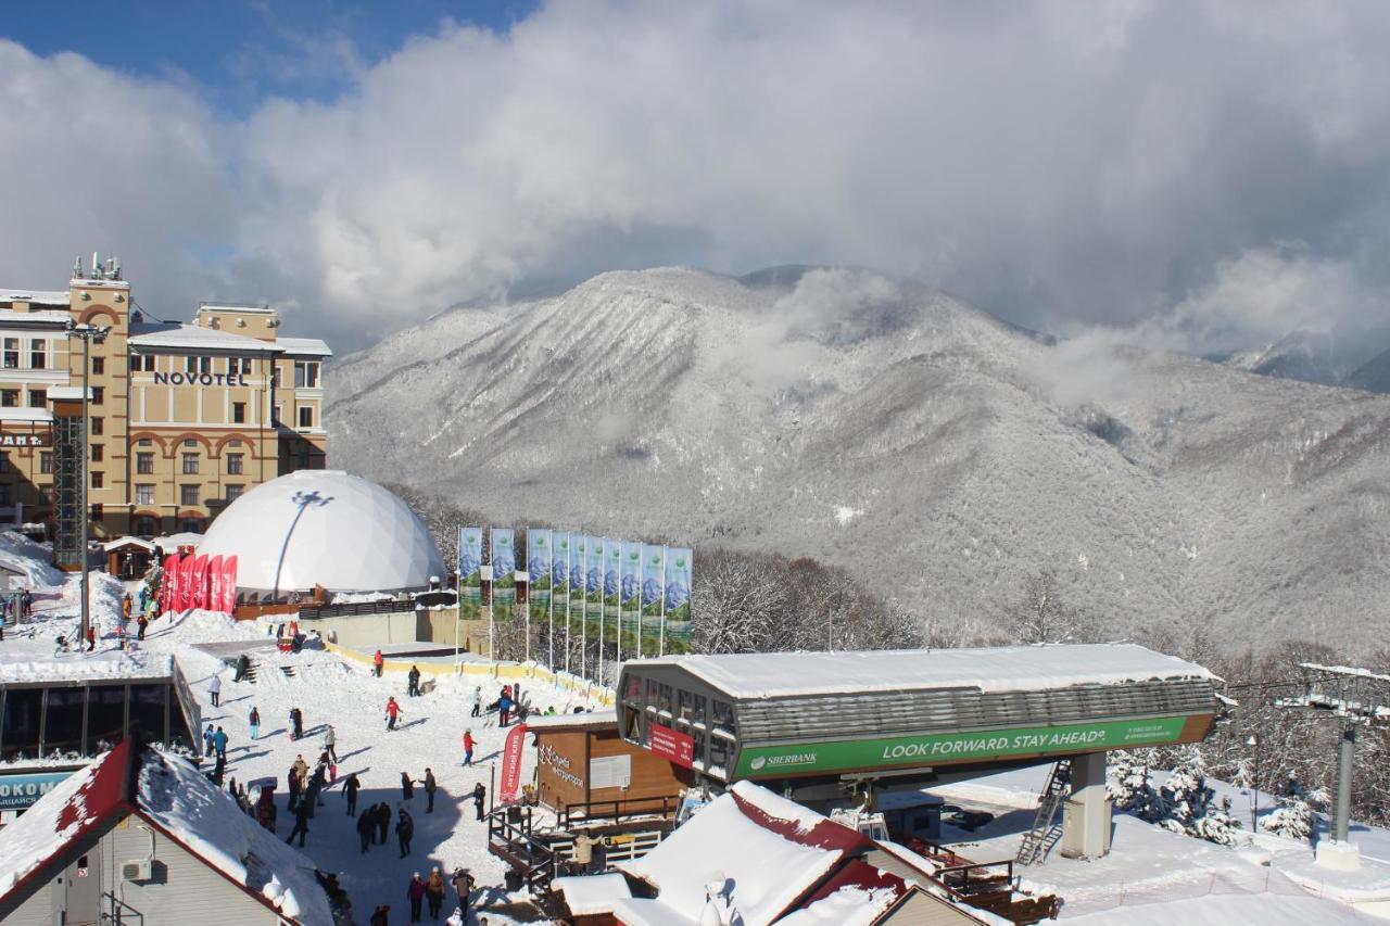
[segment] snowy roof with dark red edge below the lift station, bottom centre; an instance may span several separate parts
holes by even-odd
[[[724,882],[748,923],[770,923],[873,843],[799,804],[738,781],[645,856],[619,865],[657,890],[619,900],[624,923],[696,923],[705,886]]]

